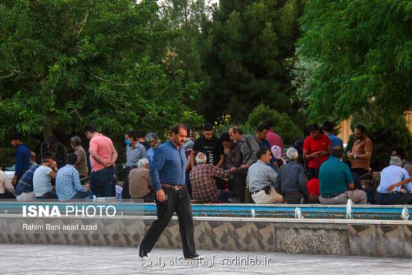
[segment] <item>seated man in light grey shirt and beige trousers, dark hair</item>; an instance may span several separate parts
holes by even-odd
[[[276,192],[277,173],[271,166],[271,151],[267,147],[260,148],[256,152],[258,161],[249,167],[247,184],[255,203],[282,203],[283,197]]]

